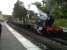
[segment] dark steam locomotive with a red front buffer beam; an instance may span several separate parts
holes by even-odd
[[[38,13],[34,10],[28,10],[25,20],[25,23],[22,23],[22,25],[28,28],[31,27],[32,30],[35,30],[40,35],[45,33],[63,32],[62,28],[53,25],[54,18],[41,10],[39,10]],[[19,23],[15,21],[15,19],[12,21]]]

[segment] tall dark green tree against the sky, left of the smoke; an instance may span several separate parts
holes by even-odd
[[[19,20],[23,20],[23,23],[25,23],[26,14],[27,10],[24,8],[23,2],[18,0],[14,5],[13,16],[19,18]]]

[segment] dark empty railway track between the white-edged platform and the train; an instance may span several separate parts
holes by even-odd
[[[15,28],[17,31],[20,30],[19,32],[21,34],[31,39],[33,43],[39,45],[39,47],[43,48],[43,50],[46,46],[50,48],[50,50],[67,50],[67,45],[64,44],[65,42],[61,43],[61,40],[59,42],[57,38],[51,39],[44,36],[40,36],[33,33],[32,31],[28,31],[27,29],[23,29],[20,27],[16,28],[16,26],[14,26],[13,28]]]

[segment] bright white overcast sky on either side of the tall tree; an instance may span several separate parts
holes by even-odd
[[[12,15],[14,4],[17,0],[0,0],[0,11],[2,14]],[[23,1],[25,6],[27,7],[28,4],[33,2],[41,2],[42,0],[20,0]]]

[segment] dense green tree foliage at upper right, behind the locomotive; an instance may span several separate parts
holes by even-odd
[[[48,12],[56,18],[67,18],[67,1],[66,0],[48,0],[46,5],[38,6],[42,11]]]

